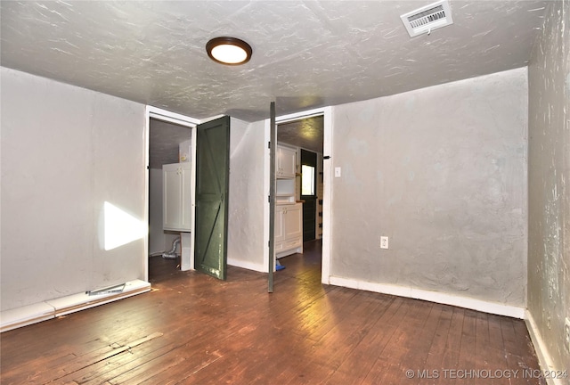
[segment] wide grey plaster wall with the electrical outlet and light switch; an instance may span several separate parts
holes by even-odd
[[[335,107],[332,275],[525,306],[526,75]]]

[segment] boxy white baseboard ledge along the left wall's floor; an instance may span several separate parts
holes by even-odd
[[[0,312],[0,332],[7,332],[28,324],[52,319],[61,315],[96,307],[118,299],[132,297],[142,292],[151,291],[151,283],[141,280],[125,283],[123,291],[118,293],[90,296],[87,293],[73,294],[59,299],[50,299],[25,307],[17,307]]]

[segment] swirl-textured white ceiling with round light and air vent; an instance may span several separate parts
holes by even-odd
[[[548,1],[451,0],[454,24],[411,38],[427,1],[1,2],[1,64],[205,119],[247,121],[525,66]],[[240,37],[253,58],[205,45]]]

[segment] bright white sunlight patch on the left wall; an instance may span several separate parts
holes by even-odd
[[[104,244],[105,250],[113,250],[126,243],[141,239],[147,226],[108,201],[104,204]]]

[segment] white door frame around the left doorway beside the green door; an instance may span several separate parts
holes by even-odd
[[[178,126],[191,128],[191,233],[190,233],[190,250],[182,252],[180,269],[194,269],[194,217],[195,217],[195,196],[196,196],[196,126],[200,120],[185,116],[176,112],[167,111],[151,105],[146,106],[145,111],[145,127],[144,127],[144,223],[149,223],[149,160],[150,160],[150,143],[151,143],[151,119],[161,120],[173,123]],[[182,247],[181,247],[182,249]],[[149,282],[149,233],[144,235],[144,280]]]

